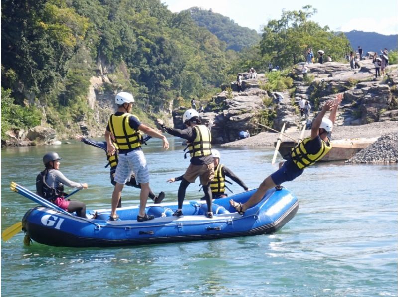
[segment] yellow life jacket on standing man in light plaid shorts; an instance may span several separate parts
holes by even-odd
[[[108,121],[109,129],[113,133],[119,149],[124,150],[141,147],[140,136],[138,132],[131,128],[128,124],[128,119],[130,117],[136,116],[129,113],[124,113],[120,116],[116,116],[115,114],[110,115]]]

